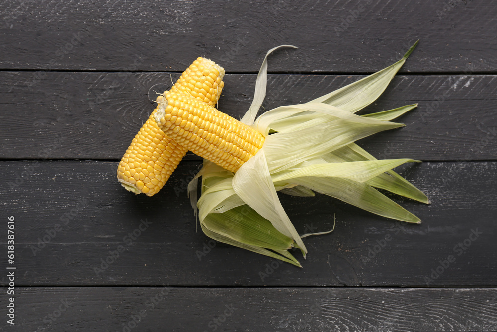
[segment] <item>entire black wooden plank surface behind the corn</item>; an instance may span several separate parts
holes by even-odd
[[[495,1],[0,2],[0,330],[497,330]],[[149,89],[198,56],[224,66],[219,108],[240,117],[274,46],[299,49],[270,57],[265,109],[382,69],[417,39],[366,111],[419,107],[360,145],[424,161],[399,172],[432,203],[394,198],[421,225],[281,196],[300,233],[336,214],[334,232],[306,238],[307,260],[295,252],[299,269],[195,230],[195,156],[152,198],[116,180]]]

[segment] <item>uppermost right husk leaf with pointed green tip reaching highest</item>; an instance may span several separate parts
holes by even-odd
[[[374,102],[385,91],[392,78],[414,51],[418,42],[419,40],[414,43],[402,59],[393,65],[329,94],[318,97],[311,101],[311,103],[330,104],[352,113],[363,109]]]

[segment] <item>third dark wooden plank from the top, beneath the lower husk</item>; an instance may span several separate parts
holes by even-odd
[[[324,195],[281,195],[301,234],[331,229],[336,214],[333,233],[306,238],[307,260],[293,252],[302,269],[196,232],[186,184],[198,165],[182,163],[159,194],[147,197],[121,188],[116,162],[1,162],[3,214],[17,222],[17,285],[497,285],[496,162],[400,169],[432,202],[394,198],[421,225]],[[6,238],[0,243],[6,252]]]

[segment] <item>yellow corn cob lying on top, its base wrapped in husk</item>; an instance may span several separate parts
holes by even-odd
[[[154,118],[166,135],[232,172],[264,143],[257,130],[184,94],[166,92],[157,110]]]

